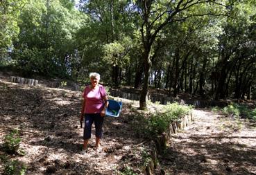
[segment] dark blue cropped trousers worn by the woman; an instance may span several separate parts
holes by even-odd
[[[103,120],[101,113],[85,113],[85,127],[83,129],[83,139],[91,138],[92,133],[92,123],[95,125],[95,136],[97,138],[102,138],[103,135]]]

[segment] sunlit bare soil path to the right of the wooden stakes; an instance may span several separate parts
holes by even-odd
[[[176,133],[160,158],[167,174],[256,174],[256,124],[194,110],[195,120]]]

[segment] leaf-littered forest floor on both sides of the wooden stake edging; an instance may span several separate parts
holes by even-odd
[[[4,136],[17,128],[22,138],[20,147],[26,153],[6,155],[0,149],[0,174],[3,157],[24,163],[26,174],[142,174],[148,142],[137,136],[133,125],[137,102],[119,99],[123,101],[121,116],[105,118],[102,149],[94,150],[92,134],[89,150],[82,154],[80,92],[0,79],[0,94],[0,145]],[[155,105],[150,104],[150,109],[160,107]],[[173,134],[159,156],[160,172],[256,174],[255,123],[212,113],[210,109],[193,112],[194,122]]]

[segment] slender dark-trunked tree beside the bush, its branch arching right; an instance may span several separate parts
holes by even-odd
[[[139,107],[146,109],[149,73],[152,66],[152,46],[160,31],[176,21],[184,21],[189,17],[219,15],[226,7],[221,1],[136,1],[137,10],[141,15],[141,35],[143,43],[142,59],[144,62],[144,86],[139,99]],[[222,13],[223,14],[223,13]]]

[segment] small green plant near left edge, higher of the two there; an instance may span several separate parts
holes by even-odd
[[[19,136],[19,131],[17,129],[13,129],[8,135],[4,137],[3,149],[8,154],[16,154],[19,149],[21,140],[22,139]]]

